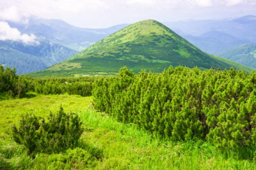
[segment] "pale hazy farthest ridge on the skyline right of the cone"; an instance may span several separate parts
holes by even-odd
[[[187,20],[166,22],[165,24],[174,31],[179,30],[192,36],[200,36],[206,32],[218,31],[256,43],[256,16],[253,15],[223,20]]]

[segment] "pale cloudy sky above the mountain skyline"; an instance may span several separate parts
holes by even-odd
[[[255,9],[256,0],[0,0],[0,19],[24,22],[35,15],[78,27],[102,28],[145,19],[241,17],[256,15]]]

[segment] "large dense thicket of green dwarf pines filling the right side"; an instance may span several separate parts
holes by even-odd
[[[137,124],[157,138],[203,139],[223,150],[241,148],[253,157],[256,144],[256,73],[169,67],[163,73],[127,67],[97,81],[99,111]]]

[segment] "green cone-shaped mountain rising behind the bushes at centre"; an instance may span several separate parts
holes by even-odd
[[[202,52],[156,20],[143,20],[111,34],[64,62],[30,75],[116,74],[123,66],[136,73],[141,69],[161,72],[169,66],[201,69],[233,66],[250,71],[236,62]]]

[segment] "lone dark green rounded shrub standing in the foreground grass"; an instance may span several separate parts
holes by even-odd
[[[14,140],[28,149],[28,154],[58,153],[77,145],[83,127],[76,113],[65,113],[63,108],[56,115],[50,113],[48,120],[25,115],[19,129],[13,126]]]

